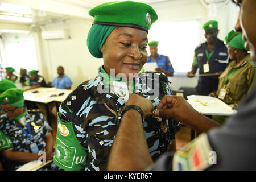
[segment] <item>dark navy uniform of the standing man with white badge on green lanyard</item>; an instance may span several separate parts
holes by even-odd
[[[199,74],[204,73],[203,65],[207,63],[207,56],[205,50],[209,52],[207,43],[202,43],[195,49],[195,56],[193,61],[193,67],[199,68]],[[228,66],[228,49],[224,42],[218,39],[216,46],[214,47],[214,53],[209,59],[209,72],[217,73],[223,72]],[[218,78],[213,76],[199,76],[199,80],[196,86],[197,94],[208,96],[211,92],[215,92],[218,89]]]

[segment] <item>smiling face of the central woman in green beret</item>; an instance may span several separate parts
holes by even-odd
[[[147,61],[147,32],[137,28],[116,27],[101,48],[104,69],[110,75],[138,73]]]

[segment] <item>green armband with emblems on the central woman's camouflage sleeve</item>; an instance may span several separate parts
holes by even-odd
[[[86,163],[87,149],[82,147],[73,130],[73,122],[62,122],[57,114],[57,135],[53,162],[61,169],[79,171]]]

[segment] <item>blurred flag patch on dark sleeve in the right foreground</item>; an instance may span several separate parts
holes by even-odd
[[[174,154],[172,169],[174,171],[204,170],[212,165],[212,151],[207,134],[203,133]]]

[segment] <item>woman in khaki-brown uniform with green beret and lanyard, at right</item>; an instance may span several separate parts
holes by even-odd
[[[235,109],[253,86],[255,68],[253,61],[251,61],[251,55],[245,48],[242,34],[232,30],[226,36],[225,42],[232,62],[220,75],[218,90],[210,93],[210,96],[220,98],[232,109]],[[213,116],[214,120],[221,123],[225,121],[225,118]]]

